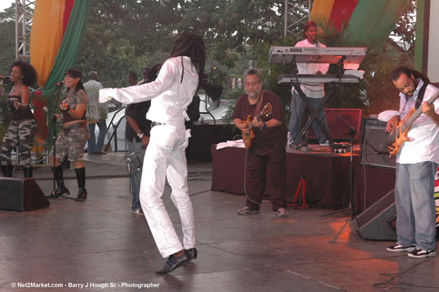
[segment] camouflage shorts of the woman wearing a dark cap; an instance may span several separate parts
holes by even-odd
[[[85,127],[74,127],[60,131],[55,142],[55,158],[60,161],[68,156],[69,161],[83,161],[85,142],[90,139],[90,130]],[[53,149],[50,151],[50,157],[53,157]]]

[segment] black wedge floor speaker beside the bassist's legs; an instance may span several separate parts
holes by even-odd
[[[395,191],[392,190],[356,216],[354,223],[363,239],[396,240]]]

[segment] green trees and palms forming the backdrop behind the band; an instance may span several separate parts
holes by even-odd
[[[176,34],[193,32],[203,36],[207,46],[205,72],[213,83],[225,85],[224,97],[235,97],[227,86],[230,76],[242,77],[249,61],[261,69],[265,89],[271,90],[288,105],[291,88],[277,85],[277,76],[293,69],[268,64],[270,46],[294,46],[301,39],[284,37],[284,0],[92,0],[92,11],[76,67],[86,76],[99,73],[104,86],[126,86],[127,73],[163,62],[169,55]],[[393,34],[412,46],[414,8],[410,1]],[[290,11],[302,18],[306,11]],[[0,13],[3,36],[0,74],[8,74],[13,60],[15,4]],[[306,20],[305,20],[306,21]],[[364,46],[344,39],[332,27],[323,28],[327,46]],[[389,70],[396,64],[410,64],[412,55],[384,46],[369,50],[361,68],[365,79],[359,85],[343,86],[330,99],[332,107],[359,107],[376,112],[390,95]],[[331,69],[335,70],[335,69]],[[140,76],[141,78],[141,76]],[[384,103],[384,104],[383,104]]]

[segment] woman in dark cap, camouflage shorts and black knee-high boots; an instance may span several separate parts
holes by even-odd
[[[55,173],[55,180],[58,188],[53,196],[69,195],[70,192],[64,186],[64,175],[62,173],[61,161],[69,157],[73,162],[78,180],[78,196],[76,200],[83,201],[87,197],[85,190],[85,167],[83,162],[85,142],[90,138],[87,121],[85,120],[85,109],[87,108],[87,93],[85,93],[81,81],[81,71],[68,69],[64,78],[64,100],[60,104],[61,114],[55,114],[57,120],[62,120],[62,130],[55,142],[55,167],[53,166],[53,153],[50,153],[50,164]]]

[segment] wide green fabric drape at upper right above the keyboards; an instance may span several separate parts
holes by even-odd
[[[408,0],[358,1],[345,33],[352,41],[379,49],[386,42],[407,3]]]

